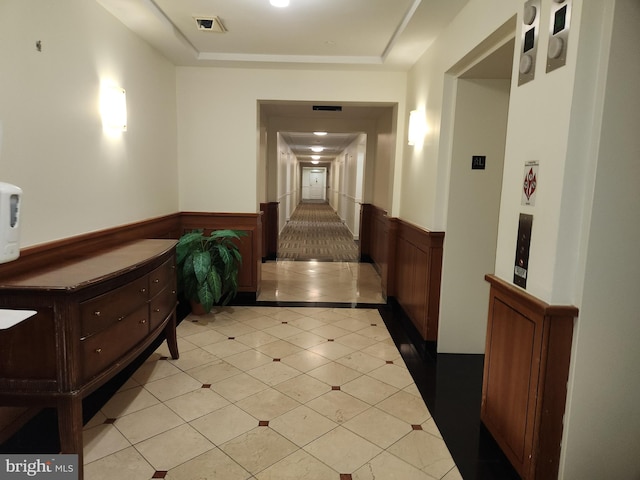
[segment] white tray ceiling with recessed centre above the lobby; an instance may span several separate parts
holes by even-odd
[[[468,0],[97,0],[176,65],[406,70]],[[225,33],[199,30],[218,17]]]

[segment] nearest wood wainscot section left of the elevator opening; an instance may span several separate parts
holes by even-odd
[[[438,339],[444,232],[397,220],[395,296],[425,341]]]

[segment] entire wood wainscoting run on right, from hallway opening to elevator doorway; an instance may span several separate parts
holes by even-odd
[[[444,232],[431,232],[363,204],[360,258],[372,261],[388,297],[395,297],[425,342],[438,338]]]

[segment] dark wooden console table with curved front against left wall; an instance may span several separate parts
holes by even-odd
[[[175,244],[139,240],[0,281],[0,308],[37,312],[0,329],[0,405],[56,407],[80,478],[82,398],[163,332],[178,358]]]

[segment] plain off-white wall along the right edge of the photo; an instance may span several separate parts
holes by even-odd
[[[609,12],[594,15],[610,21]],[[565,422],[566,479],[640,478],[638,25],[640,3],[617,0],[606,26],[613,38]]]

